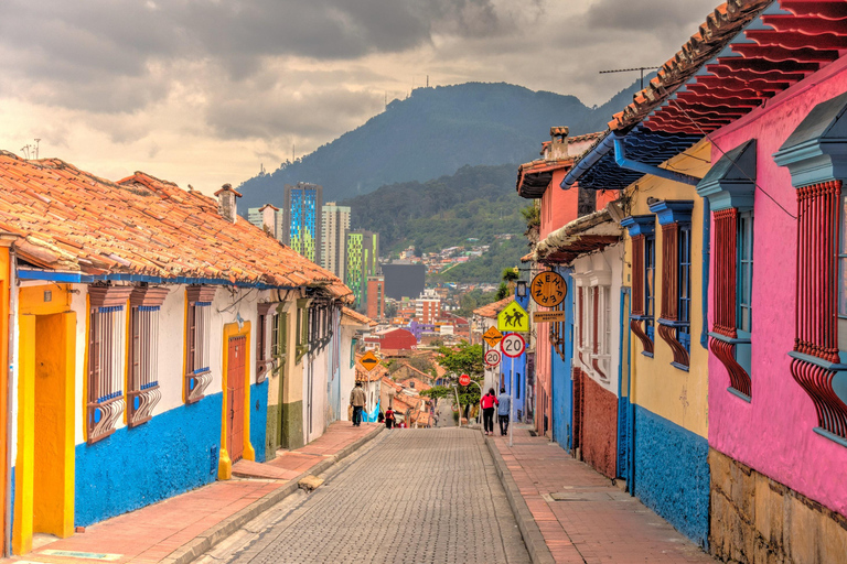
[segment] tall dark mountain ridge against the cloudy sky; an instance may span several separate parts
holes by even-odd
[[[417,88],[302,159],[245,181],[238,204],[245,214],[248,207],[280,205],[285,184],[297,182],[322,185],[323,199],[330,202],[386,184],[425,182],[464,165],[530,161],[550,126],[568,126],[573,135],[601,131],[636,90],[633,84],[603,106],[589,108],[575,96],[505,83]]]

